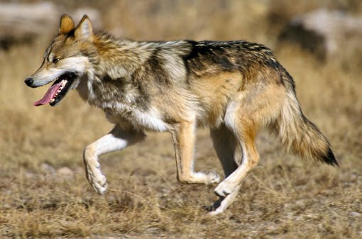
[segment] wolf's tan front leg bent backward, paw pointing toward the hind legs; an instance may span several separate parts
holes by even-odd
[[[195,123],[183,121],[178,123],[172,133],[175,145],[177,179],[185,184],[212,184],[220,181],[214,172],[194,172],[194,138]]]

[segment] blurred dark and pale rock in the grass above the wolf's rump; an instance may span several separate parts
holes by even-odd
[[[319,9],[293,18],[283,28],[278,40],[300,45],[317,55],[319,60],[325,60],[338,55],[353,37],[362,37],[362,16]]]

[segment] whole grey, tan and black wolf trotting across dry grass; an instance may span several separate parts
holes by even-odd
[[[258,164],[255,140],[262,128],[278,135],[295,154],[338,166],[328,140],[302,113],[292,77],[263,45],[116,39],[94,33],[86,15],[77,26],[63,15],[42,65],[25,80],[29,87],[50,82],[35,106],[56,106],[77,89],[114,123],[108,134],[84,149],[86,176],[99,194],[107,188],[99,155],[144,140],[148,130],[171,133],[179,182],[218,183],[212,215],[225,211]],[[215,172],[193,169],[200,127],[210,128],[224,170],[222,181]],[[236,148],[241,161],[235,159]]]

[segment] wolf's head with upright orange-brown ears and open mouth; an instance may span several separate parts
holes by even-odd
[[[68,15],[60,18],[59,34],[44,53],[40,68],[25,80],[29,87],[41,87],[53,82],[43,96],[34,102],[35,106],[50,104],[55,106],[70,89],[75,89],[79,80],[89,68],[89,58],[84,55],[94,40],[92,24],[87,16],[75,26]]]

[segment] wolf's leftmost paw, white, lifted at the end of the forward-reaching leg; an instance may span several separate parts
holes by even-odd
[[[103,195],[107,189],[107,183],[106,177],[100,170],[99,163],[96,165],[96,167],[86,165],[86,174],[88,182],[92,185],[93,189],[97,191],[98,194]]]

